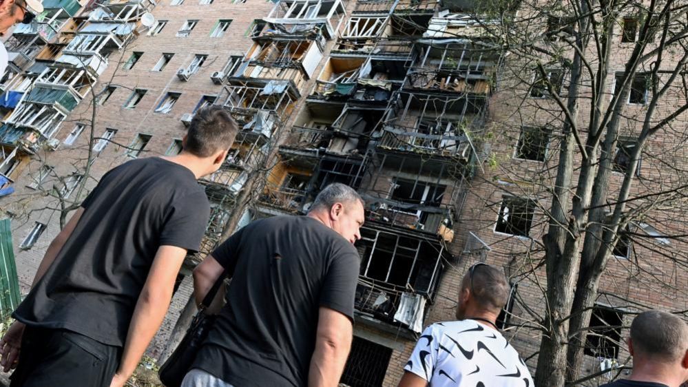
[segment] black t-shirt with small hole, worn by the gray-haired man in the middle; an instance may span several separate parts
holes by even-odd
[[[313,218],[276,216],[244,227],[212,255],[232,280],[194,368],[238,387],[305,386],[318,308],[353,320],[353,244]]]

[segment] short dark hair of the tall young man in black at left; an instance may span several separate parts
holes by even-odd
[[[198,157],[212,156],[219,150],[229,149],[237,132],[236,122],[224,108],[202,107],[191,120],[184,150]]]

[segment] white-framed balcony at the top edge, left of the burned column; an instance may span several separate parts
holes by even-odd
[[[324,25],[327,39],[335,36],[346,16],[342,0],[285,0],[275,4],[264,21],[282,25],[287,31],[307,28],[307,25]]]

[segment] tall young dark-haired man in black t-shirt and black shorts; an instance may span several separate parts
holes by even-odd
[[[207,226],[196,179],[222,165],[237,131],[221,107],[200,109],[180,154],[132,160],[101,178],[51,242],[0,341],[5,371],[17,366],[11,386],[125,384]]]

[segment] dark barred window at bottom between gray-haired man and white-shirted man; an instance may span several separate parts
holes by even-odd
[[[392,348],[354,336],[340,386],[382,386],[391,357]]]

